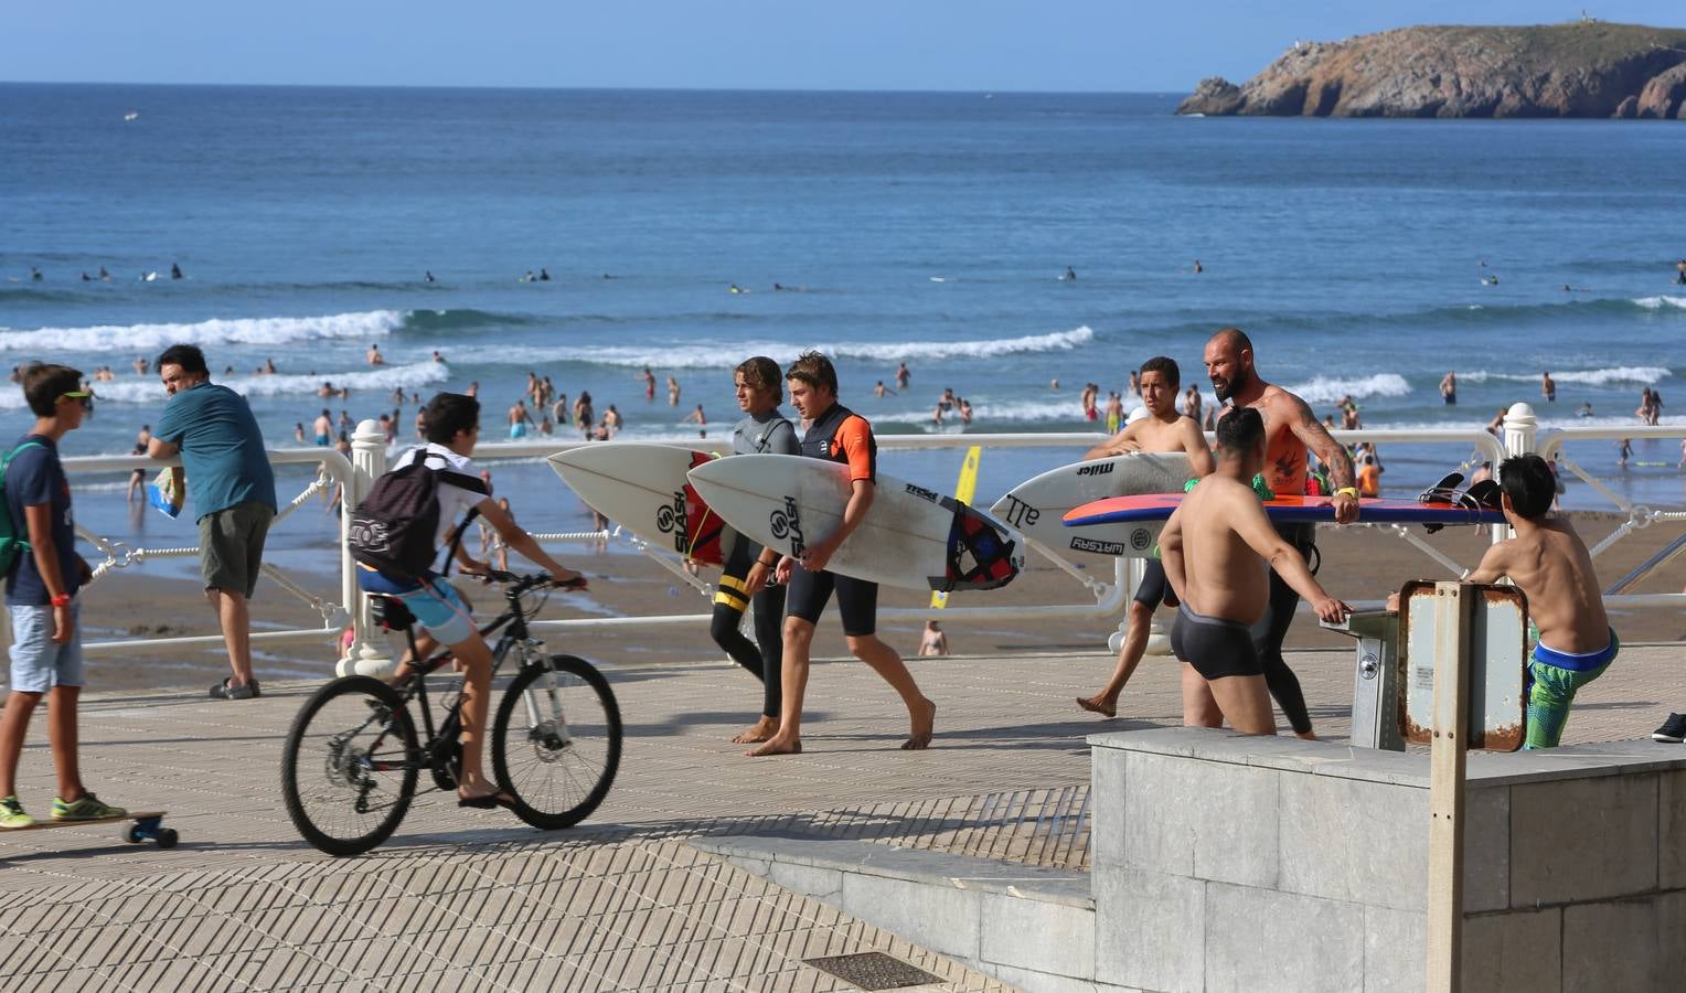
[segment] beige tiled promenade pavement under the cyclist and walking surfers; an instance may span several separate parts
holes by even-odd
[[[1686,710],[1681,651],[1624,646],[1565,740],[1646,737]],[[1345,735],[1350,651],[1290,661],[1318,732]],[[1170,659],[1141,664],[1111,722],[1072,705],[1109,673],[1104,654],[909,663],[939,705],[931,750],[897,749],[905,715],[863,664],[826,661],[809,683],[806,752],[754,760],[728,738],[760,691],[730,663],[605,664],[627,745],[587,824],[538,833],[432,792],[354,860],[303,845],[282,806],[282,738],[314,684],[253,701],[94,690],[88,784],[169,809],[182,841],[130,846],[120,824],[0,835],[0,988],[819,991],[851,986],[808,959],[867,951],[931,973],[919,990],[1005,988],[686,845],[796,833],[1086,868],[1084,735],[1180,722]],[[98,663],[96,686],[106,664],[121,663]],[[46,816],[40,717],[20,796]]]

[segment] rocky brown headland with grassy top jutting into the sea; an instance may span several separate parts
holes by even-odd
[[[1676,118],[1683,108],[1686,30],[1578,22],[1295,42],[1241,86],[1202,79],[1177,113]]]

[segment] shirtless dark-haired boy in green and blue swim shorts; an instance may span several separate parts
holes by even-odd
[[[1499,577],[1528,593],[1528,614],[1539,629],[1528,664],[1528,740],[1524,749],[1556,749],[1575,693],[1603,674],[1620,649],[1603,612],[1598,577],[1587,545],[1568,518],[1551,518],[1556,480],[1539,455],[1499,464],[1504,516],[1516,538],[1487,550],[1469,575],[1472,583]]]

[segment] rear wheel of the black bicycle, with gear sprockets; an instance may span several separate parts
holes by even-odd
[[[282,797],[305,841],[362,855],[398,828],[416,792],[416,730],[396,690],[346,676],[305,701],[282,752]]]

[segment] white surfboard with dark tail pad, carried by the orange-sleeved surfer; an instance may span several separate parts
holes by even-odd
[[[843,523],[850,497],[846,465],[799,455],[720,459],[691,469],[690,479],[727,524],[797,556]],[[880,474],[872,509],[826,570],[909,590],[990,590],[1023,563],[988,514]]]

